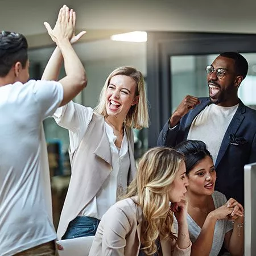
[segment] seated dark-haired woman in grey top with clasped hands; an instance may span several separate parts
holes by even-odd
[[[175,149],[185,156],[189,182],[185,196],[191,255],[217,256],[223,243],[233,256],[243,255],[243,207],[214,191],[216,171],[205,143],[188,140]]]

